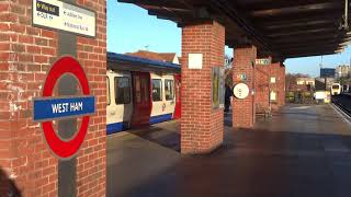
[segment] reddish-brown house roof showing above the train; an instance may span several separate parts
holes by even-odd
[[[154,53],[148,50],[138,50],[135,53],[126,53],[128,56],[135,56],[146,59],[159,60],[165,62],[173,62],[176,53]]]

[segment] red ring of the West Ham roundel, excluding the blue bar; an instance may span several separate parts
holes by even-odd
[[[89,95],[89,83],[80,63],[71,57],[63,57],[57,60],[49,70],[43,90],[44,97],[53,96],[57,80],[64,74],[75,76],[81,86],[82,93]],[[55,132],[52,121],[42,123],[47,144],[59,158],[71,158],[79,150],[87,135],[90,116],[83,116],[78,134],[70,141],[63,141]]]

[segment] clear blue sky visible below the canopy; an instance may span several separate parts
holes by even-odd
[[[147,11],[117,0],[107,0],[107,50],[128,53],[148,49],[159,53],[174,51],[181,55],[181,28],[177,24],[147,14]],[[226,48],[231,56],[233,50]],[[351,49],[322,57],[324,67],[333,68],[350,63]],[[285,66],[291,73],[319,76],[320,56],[286,59]]]

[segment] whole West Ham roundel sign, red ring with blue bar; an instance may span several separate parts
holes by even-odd
[[[55,84],[65,74],[71,74],[78,80],[81,96],[53,97]],[[63,57],[53,65],[43,88],[43,97],[34,99],[33,108],[33,120],[42,124],[45,139],[54,154],[61,159],[73,157],[87,135],[89,115],[95,112],[95,99],[90,95],[88,79],[76,59]],[[78,134],[69,141],[61,140],[55,132],[53,120],[81,116]]]

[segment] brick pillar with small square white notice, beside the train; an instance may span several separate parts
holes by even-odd
[[[182,30],[181,152],[207,153],[223,142],[223,108],[212,109],[212,68],[223,67],[225,27],[217,22]],[[202,69],[189,69],[189,54],[202,54]]]

